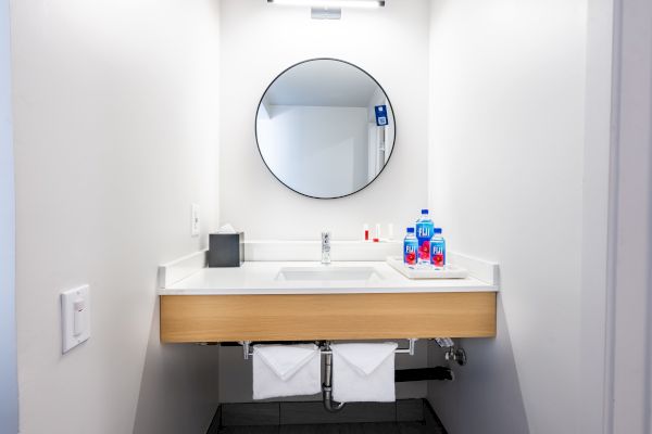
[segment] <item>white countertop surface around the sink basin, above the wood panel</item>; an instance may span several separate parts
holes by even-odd
[[[161,288],[159,295],[256,295],[256,294],[365,294],[428,292],[497,292],[498,286],[465,279],[408,279],[385,261],[337,261],[334,267],[374,267],[377,275],[366,281],[277,280],[283,267],[322,267],[317,261],[247,261],[237,268],[200,268],[186,278]],[[327,267],[327,266],[323,266]]]

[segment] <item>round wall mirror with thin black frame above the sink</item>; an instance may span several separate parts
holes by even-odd
[[[255,118],[263,161],[285,186],[311,197],[353,194],[383,171],[393,150],[391,104],[369,74],[314,59],[283,72]]]

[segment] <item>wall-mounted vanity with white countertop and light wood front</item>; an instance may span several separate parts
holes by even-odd
[[[256,247],[269,243],[248,243]],[[205,268],[205,253],[198,253],[161,267],[161,341],[494,336],[498,266],[452,253],[451,260],[471,276],[410,280],[381,260]]]

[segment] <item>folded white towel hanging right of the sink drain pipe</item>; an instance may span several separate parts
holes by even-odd
[[[334,344],[333,398],[340,403],[392,403],[396,343]]]

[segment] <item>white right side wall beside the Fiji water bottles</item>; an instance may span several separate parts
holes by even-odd
[[[450,433],[576,433],[587,1],[431,4],[430,204],[501,294],[429,398]]]

